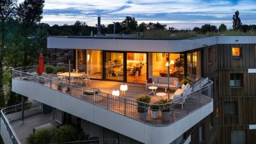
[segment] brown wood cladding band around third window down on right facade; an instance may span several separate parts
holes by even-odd
[[[221,97],[220,106],[220,125],[244,125],[256,124],[256,97]],[[224,116],[224,102],[237,102],[237,115]]]

